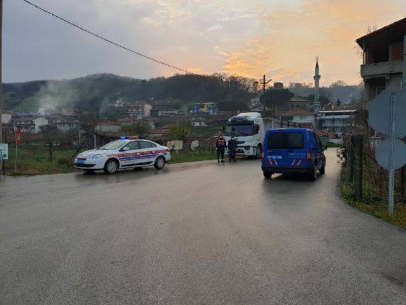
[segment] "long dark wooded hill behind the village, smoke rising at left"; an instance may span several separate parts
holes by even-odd
[[[243,77],[175,75],[141,80],[114,74],[94,74],[66,80],[4,84],[6,110],[42,111],[61,108],[99,109],[117,99],[152,103],[171,100],[182,107],[192,102],[217,102],[220,108],[246,107],[255,94]]]

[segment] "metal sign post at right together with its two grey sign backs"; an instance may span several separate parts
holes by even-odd
[[[388,211],[394,210],[395,169],[406,163],[406,144],[401,140],[406,135],[406,91],[384,90],[374,99],[368,109],[369,125],[385,138],[376,149],[375,159],[389,170]]]

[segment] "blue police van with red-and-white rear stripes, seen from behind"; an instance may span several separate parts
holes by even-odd
[[[270,129],[262,149],[262,171],[265,178],[274,173],[301,173],[311,180],[317,171],[324,174],[326,157],[319,136],[305,128]]]

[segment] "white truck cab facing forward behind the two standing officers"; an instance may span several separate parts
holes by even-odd
[[[224,138],[228,143],[231,136],[234,136],[237,141],[236,155],[259,159],[262,154],[265,131],[271,128],[270,126],[272,126],[272,121],[263,119],[258,112],[240,113],[228,119],[224,129]]]

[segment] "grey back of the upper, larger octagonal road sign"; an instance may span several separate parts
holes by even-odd
[[[374,128],[378,133],[389,138],[392,94],[396,95],[395,138],[403,138],[406,136],[406,91],[384,90],[370,104],[368,122],[369,126]]]

